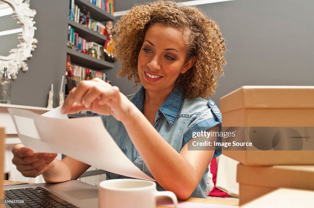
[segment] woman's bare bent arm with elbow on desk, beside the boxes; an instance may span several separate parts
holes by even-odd
[[[138,109],[134,109],[133,113],[123,124],[149,171],[163,188],[173,191],[179,200],[187,199],[201,180],[214,150],[188,151],[187,143],[178,153]],[[218,129],[214,127],[213,130]]]

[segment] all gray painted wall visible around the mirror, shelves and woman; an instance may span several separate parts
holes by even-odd
[[[133,1],[114,3],[119,11],[130,8]],[[60,51],[65,51],[67,23],[60,21],[68,16],[68,3],[31,0],[30,5],[37,11],[39,44],[27,61],[29,71],[20,72],[12,82],[11,102],[45,107],[51,83],[59,88],[65,71],[66,54]],[[227,40],[225,77],[212,96],[216,103],[243,85],[314,85],[314,1],[236,0],[200,7],[220,24]],[[124,94],[136,92],[132,82],[115,78],[117,68],[116,64],[106,71],[108,79]]]

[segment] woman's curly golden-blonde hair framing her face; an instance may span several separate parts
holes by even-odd
[[[223,75],[226,64],[225,40],[219,26],[207,18],[198,8],[178,5],[172,1],[156,1],[137,5],[118,20],[112,30],[116,43],[116,60],[121,62],[118,76],[134,79],[138,75],[138,54],[147,29],[154,23],[162,23],[188,31],[187,57],[196,60],[192,67],[176,80],[176,86],[184,90],[185,98],[208,97],[215,93],[217,78]]]

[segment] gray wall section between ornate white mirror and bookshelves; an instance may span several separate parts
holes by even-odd
[[[19,71],[11,83],[11,103],[18,105],[46,107],[51,83],[54,84],[54,106],[59,99],[62,74],[65,72],[68,3],[64,0],[31,0],[35,9],[35,38],[37,49],[26,61],[29,70]],[[15,34],[16,38],[16,34]]]

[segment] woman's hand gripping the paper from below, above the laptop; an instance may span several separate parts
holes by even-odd
[[[57,157],[56,153],[34,153],[23,144],[15,145],[12,153],[13,164],[26,177],[36,177],[50,169],[51,162]]]

